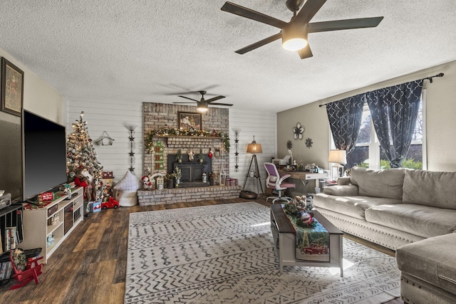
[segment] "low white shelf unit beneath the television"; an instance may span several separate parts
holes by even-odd
[[[84,219],[83,187],[73,189],[71,199],[64,195],[38,209],[24,210],[24,241],[21,248],[43,248],[43,263]],[[48,246],[48,236],[54,241]]]

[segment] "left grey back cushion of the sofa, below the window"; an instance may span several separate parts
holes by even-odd
[[[359,195],[403,199],[405,169],[375,170],[354,167],[351,183],[359,187]]]

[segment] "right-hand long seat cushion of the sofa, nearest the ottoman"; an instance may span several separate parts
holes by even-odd
[[[380,205],[366,209],[366,221],[430,238],[456,231],[456,210],[415,204]]]

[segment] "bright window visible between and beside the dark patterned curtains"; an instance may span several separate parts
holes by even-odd
[[[425,164],[425,90],[421,94],[420,110],[415,126],[415,134],[410,145],[410,150],[403,162],[403,167],[412,169],[426,169]],[[388,160],[381,152],[380,144],[371,120],[368,105],[364,105],[363,118],[359,131],[356,147],[347,156],[346,169],[351,167],[365,167],[371,169],[387,169],[390,167]]]

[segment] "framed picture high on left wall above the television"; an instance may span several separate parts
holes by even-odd
[[[24,105],[24,72],[2,57],[0,79],[1,110],[21,116]]]

